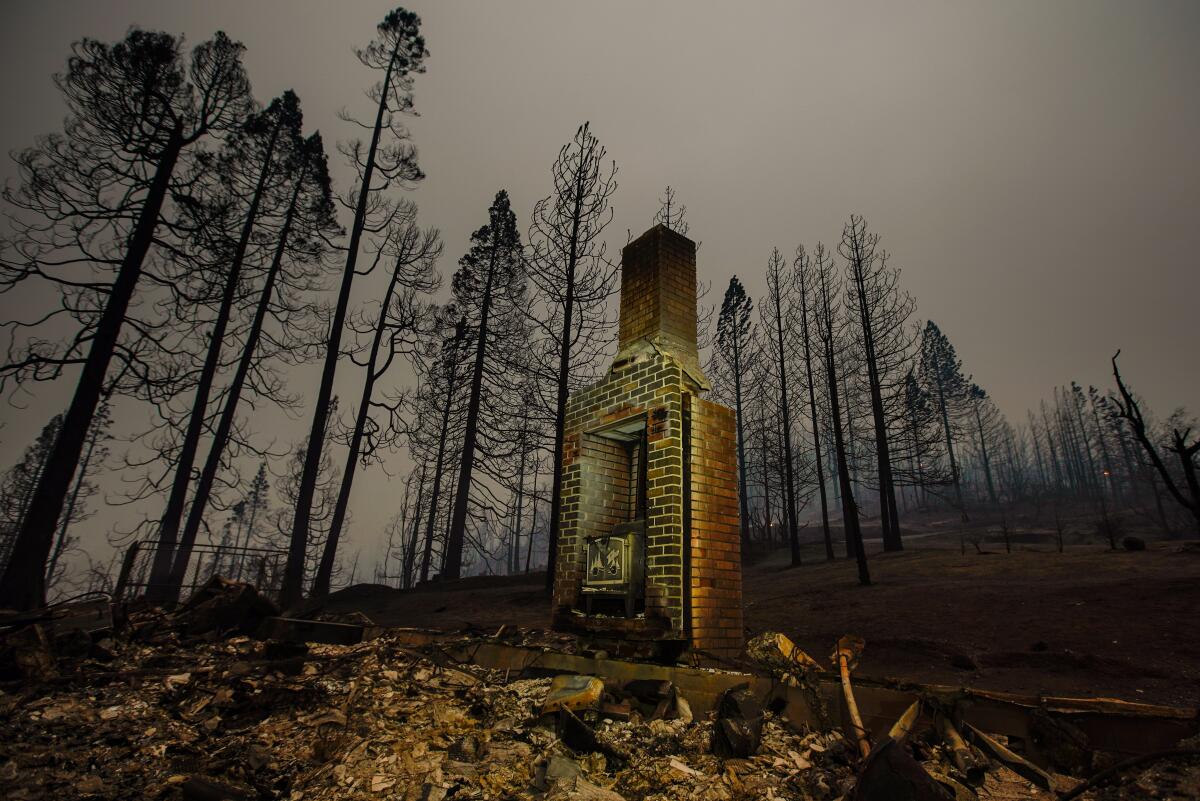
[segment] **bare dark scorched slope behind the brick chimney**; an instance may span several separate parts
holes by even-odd
[[[901,553],[868,542],[874,585],[853,562],[824,561],[808,537],[805,565],[786,552],[746,565],[750,634],[780,631],[824,657],[854,632],[866,639],[859,671],[929,683],[1022,693],[1109,695],[1200,705],[1200,643],[1182,621],[1200,618],[1200,552],[1180,541],[1110,550],[1072,535],[1064,553],[1050,532],[972,532],[983,553],[944,520],[917,528]],[[811,534],[811,529],[809,530]],[[871,538],[868,531],[868,538]],[[494,631],[545,627],[542,574],[480,577],[413,592],[356,586],[331,609],[361,610],[380,625]]]

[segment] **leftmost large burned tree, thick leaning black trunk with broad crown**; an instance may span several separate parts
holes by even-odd
[[[46,278],[64,264],[90,269],[92,247],[112,247],[121,255],[103,288],[88,278],[52,278],[60,288],[83,287],[106,297],[83,337],[86,357],[65,357],[65,363],[82,365],[79,379],[0,578],[0,607],[28,609],[44,602],[54,529],[176,165],[205,137],[240,122],[248,108],[241,53],[241,44],[224,34],[196,47],[187,61],[180,42],[167,34],[133,29],[115,44],[83,40],[58,79],[68,108],[64,133],[17,157],[23,182],[6,199],[36,218],[20,235],[29,242],[25,253],[37,257],[32,264],[5,265],[6,287],[31,276]],[[31,355],[6,372],[36,368],[40,361]]]

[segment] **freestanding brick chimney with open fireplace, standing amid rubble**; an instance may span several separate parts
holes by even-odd
[[[568,401],[556,627],[740,651],[734,418],[708,390],[696,246],[655,225],[622,253],[617,356]]]

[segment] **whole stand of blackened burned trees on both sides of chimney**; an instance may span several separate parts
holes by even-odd
[[[581,125],[547,158],[529,219],[504,189],[479,209],[446,282],[448,243],[407,197],[425,177],[404,126],[428,56],[420,19],[392,11],[358,52],[373,108],[332,150],[296,94],[253,96],[242,56],[222,32],[80,40],[55,77],[62,130],[13,155],[0,291],[19,319],[2,324],[0,390],[72,395],[0,480],[0,608],[110,592],[134,542],[137,578],[163,602],[217,573],[271,571],[295,606],[350,582],[409,588],[552,558],[566,398],[614,350],[616,163]],[[350,186],[332,185],[331,157]],[[646,223],[688,233],[674,189]],[[1114,356],[1111,387],[1069,383],[1009,420],[950,332],[919,318],[866,221],[832,234],[762,247],[762,297],[737,277],[721,297],[701,288],[704,368],[737,411],[748,552],[790,548],[798,565],[802,530],[820,531],[824,556],[852,558],[869,584],[865,519],[889,550],[925,511],[1007,532],[1036,508],[1061,532],[1060,510],[1082,505],[1111,547],[1129,517],[1200,531],[1184,410],[1152,415]],[[316,386],[289,381],[301,365]],[[338,397],[346,373],[358,390]],[[306,422],[292,446],[256,433],[281,414]],[[134,430],[118,435],[116,418]],[[389,459],[406,472],[370,502],[395,517],[358,532],[385,540],[384,559],[360,565],[354,481]],[[113,476],[120,493],[102,493]],[[112,560],[80,552],[102,504],[131,512],[107,532]]]

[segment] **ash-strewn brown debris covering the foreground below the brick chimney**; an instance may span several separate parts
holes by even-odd
[[[270,612],[240,588],[193,601],[131,614],[88,648],[41,624],[0,634],[19,674],[0,683],[0,797],[988,801],[1078,784],[1026,775],[1002,739],[970,731],[968,745],[946,716],[916,725],[916,704],[864,758],[860,733],[811,730],[745,685],[697,713],[670,681],[523,677],[388,633],[257,640],[220,613]],[[779,645],[790,681],[818,669]],[[1153,771],[1080,797],[1151,797],[1121,795],[1145,776],[1198,797],[1194,761]]]

